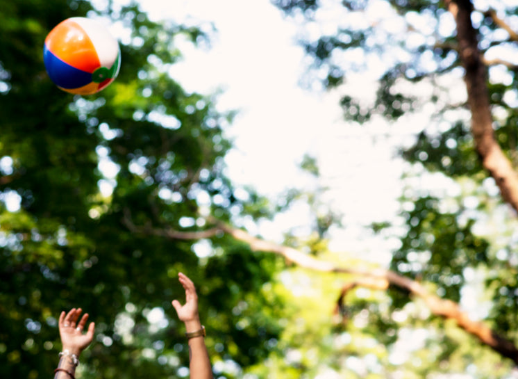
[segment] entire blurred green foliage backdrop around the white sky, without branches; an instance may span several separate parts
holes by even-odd
[[[303,26],[316,22],[322,4],[274,1],[306,20]],[[347,24],[372,4],[388,6],[408,33]],[[433,104],[415,143],[401,147],[408,170],[400,217],[373,225],[372,235],[400,239],[390,261],[394,271],[443,298],[478,305],[475,316],[518,342],[517,220],[478,163],[469,114],[463,104],[446,101],[460,78],[456,53],[446,48],[453,32],[440,30],[448,13],[437,1],[342,1],[342,7],[354,17],[344,17],[335,35],[301,38],[314,58],[305,80],[343,90],[337,106],[347,122],[366,128],[378,116],[395,128]],[[518,17],[516,7],[502,12]],[[2,378],[52,375],[60,351],[56,318],[72,307],[83,307],[97,324],[78,378],[186,377],[184,330],[171,305],[183,300],[178,271],[197,284],[216,378],[510,377],[511,362],[431,316],[408,293],[358,287],[337,308],[349,277],[302,270],[224,234],[192,241],[155,233],[204,229],[203,215],[244,225],[306,202],[314,213],[312,233],[288,230],[285,244],[336,264],[365,264],[355,252],[327,249],[329,231],[342,225],[334,209],[322,211],[326,188],[318,186],[312,157],[301,168],[315,178],[315,188],[294,188],[274,203],[226,177],[223,158],[232,142],[225,128],[235,113],[217,111],[216,94],[186,92],[168,75],[181,59],[175,39],[210,44],[202,29],[152,22],[137,4],[111,1],[94,8],[89,1],[8,0],[0,13]],[[498,27],[482,15],[474,11],[481,45],[489,48],[499,42]],[[72,16],[101,17],[123,31],[121,71],[98,95],[69,95],[44,72],[44,38]],[[417,27],[418,16],[430,29]],[[427,38],[410,45],[409,33]],[[369,68],[349,60],[349,49],[393,63],[379,75],[371,103],[346,86],[347,72]],[[397,61],[394,51],[408,58]],[[496,135],[511,159],[516,110],[506,94],[516,91],[515,74],[508,70],[505,85],[490,86],[500,110]],[[421,90],[422,83],[432,90]],[[451,190],[427,188],[426,177]],[[13,203],[19,207],[10,209]]]

